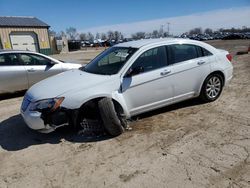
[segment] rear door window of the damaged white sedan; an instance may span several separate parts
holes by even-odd
[[[195,45],[173,44],[168,46],[169,64],[179,63],[199,57]]]

